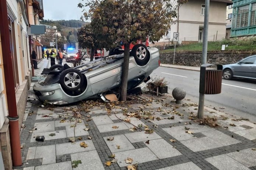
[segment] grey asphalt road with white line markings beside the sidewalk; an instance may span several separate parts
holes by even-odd
[[[151,78],[165,77],[165,80],[169,82],[168,93],[171,94],[175,87],[181,87],[186,90],[185,99],[198,103],[199,71],[159,67],[150,76]],[[205,106],[215,107],[219,111],[256,122],[256,81],[223,79],[221,93],[205,95]],[[223,107],[225,108],[221,109]]]

